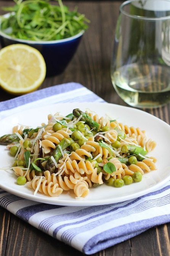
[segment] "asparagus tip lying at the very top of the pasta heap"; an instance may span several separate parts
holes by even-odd
[[[74,109],[72,113],[75,117],[80,117],[80,115],[82,115],[80,121],[84,121],[87,125],[90,126],[90,128],[93,128],[94,131],[98,131],[100,129],[101,125],[91,119],[90,115],[87,113],[81,111],[80,109]]]

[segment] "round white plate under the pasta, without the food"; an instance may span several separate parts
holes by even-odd
[[[26,185],[19,186],[16,184],[16,176],[12,170],[0,170],[0,187],[3,190],[22,198],[47,204],[93,206],[118,203],[137,198],[156,190],[170,180],[170,126],[159,118],[138,109],[107,103],[53,104],[26,110],[4,118],[0,121],[0,136],[11,133],[12,127],[18,123],[36,128],[41,123],[47,123],[47,115],[49,113],[55,114],[56,112],[61,112],[62,115],[67,115],[75,108],[80,108],[83,111],[89,108],[98,113],[99,117],[107,113],[113,119],[117,119],[118,122],[146,130],[148,139],[151,138],[157,142],[156,149],[148,154],[148,156],[155,156],[157,158],[157,170],[144,174],[141,182],[123,186],[122,188],[114,188],[106,185],[91,188],[89,195],[82,200],[75,199],[75,196],[70,193],[63,193],[57,198],[51,198],[40,193],[34,196],[34,191],[27,188]],[[11,166],[13,157],[9,155],[6,147],[0,145],[0,152],[0,167]]]

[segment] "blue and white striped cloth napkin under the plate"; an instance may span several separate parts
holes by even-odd
[[[78,83],[61,84],[0,103],[0,120],[49,102],[104,102]],[[0,189],[0,206],[42,232],[93,254],[170,221],[170,182],[149,194],[102,206],[56,206],[19,198]]]

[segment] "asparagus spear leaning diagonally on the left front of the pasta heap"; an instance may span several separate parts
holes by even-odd
[[[70,146],[69,139],[63,138],[60,143],[55,147],[54,151],[52,152],[51,156],[54,157],[56,163],[58,163],[58,160],[62,157],[61,149],[64,150],[68,146]],[[45,165],[45,169],[49,170],[50,173],[55,172],[56,166],[51,159],[51,156],[48,158],[47,163]]]

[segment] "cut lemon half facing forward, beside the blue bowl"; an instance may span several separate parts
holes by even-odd
[[[42,54],[25,44],[0,50],[0,86],[11,94],[35,91],[44,81],[46,65]]]

